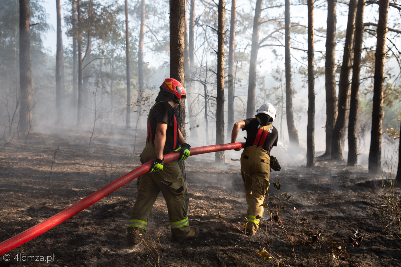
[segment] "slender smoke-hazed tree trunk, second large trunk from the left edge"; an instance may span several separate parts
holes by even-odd
[[[61,118],[61,98],[62,98],[62,58],[63,58],[63,37],[61,32],[61,7],[60,0],[56,0],[57,12],[57,44],[56,44],[56,123],[59,125]]]

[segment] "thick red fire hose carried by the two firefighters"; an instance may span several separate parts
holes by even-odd
[[[243,148],[244,143],[231,143],[231,144],[223,144],[223,145],[215,145],[215,146],[201,146],[198,148],[191,148],[191,156],[193,155],[198,155],[198,154],[205,154],[205,153],[211,153],[211,152],[216,152],[216,151],[223,151],[223,150],[231,150],[231,149],[236,149],[236,148]],[[180,153],[178,152],[172,152],[164,156],[164,162],[170,162],[172,160],[178,159]],[[68,218],[71,218],[75,214],[81,212],[85,208],[91,206],[95,202],[101,200],[111,192],[114,192],[118,188],[124,186],[128,182],[131,182],[135,178],[139,177],[140,175],[146,173],[149,169],[150,166],[152,165],[153,160],[146,162],[145,164],[139,166],[138,168],[135,168],[134,170],[128,172],[127,174],[124,174],[117,180],[114,180],[113,182],[107,184],[106,186],[103,186],[99,190],[93,192],[86,198],[80,200],[79,202],[73,204],[72,206],[69,206],[65,210],[62,210],[61,212],[51,216],[50,218],[47,218],[41,223],[38,223],[37,225],[26,229],[22,233],[19,233],[18,235],[11,237],[10,239],[7,239],[6,241],[3,241],[0,243],[0,255],[30,241],[31,239],[34,239],[38,235],[41,235],[45,233],[46,231],[52,229],[56,225],[59,225],[60,223],[63,223],[63,221],[67,220]]]

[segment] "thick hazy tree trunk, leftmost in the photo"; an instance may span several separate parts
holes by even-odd
[[[18,131],[27,135],[33,131],[33,78],[30,55],[29,0],[20,0],[20,121]]]

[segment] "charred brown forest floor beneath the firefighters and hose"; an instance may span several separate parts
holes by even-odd
[[[132,153],[132,140],[133,136],[124,132],[107,134],[88,147],[85,132],[33,133],[26,145],[14,141],[4,148],[0,152],[0,241],[139,166],[140,151]],[[382,192],[380,175],[324,160],[312,169],[282,164],[282,170],[270,177],[276,185],[279,179],[281,186],[280,191],[269,188],[266,209],[273,212],[273,220],[265,212],[257,235],[247,238],[240,231],[246,203],[239,161],[229,159],[227,156],[227,164],[217,165],[214,155],[207,154],[186,161],[190,224],[201,229],[194,240],[171,239],[160,195],[145,241],[127,248],[126,227],[137,194],[134,180],[13,249],[9,261],[1,256],[0,266],[277,266],[274,258],[278,257],[291,266],[401,266],[400,240],[376,225],[367,212]],[[291,197],[286,200],[280,193]],[[280,212],[277,222],[274,206]],[[363,240],[360,247],[352,247],[348,237],[357,229]],[[319,241],[312,243],[316,234]],[[322,238],[339,243],[330,245],[333,243],[324,243]],[[263,247],[273,256],[267,262],[258,255]],[[342,251],[349,257],[345,259],[342,253],[336,260],[330,247],[337,255]],[[54,258],[47,263],[24,261],[23,257],[17,260],[16,255]]]

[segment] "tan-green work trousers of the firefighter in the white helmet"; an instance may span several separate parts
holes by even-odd
[[[241,154],[241,175],[248,204],[246,232],[255,234],[263,215],[263,201],[269,187],[270,157],[266,150],[255,145]]]

